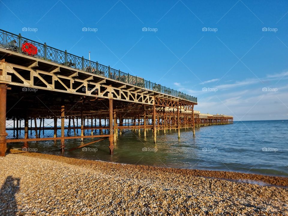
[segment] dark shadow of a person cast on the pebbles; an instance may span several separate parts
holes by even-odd
[[[16,215],[15,195],[20,189],[20,179],[8,176],[0,189],[0,215]]]

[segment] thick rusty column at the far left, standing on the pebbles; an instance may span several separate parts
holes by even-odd
[[[5,157],[6,152],[6,98],[7,84],[0,84],[0,157]]]

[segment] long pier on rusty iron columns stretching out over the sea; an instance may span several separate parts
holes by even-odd
[[[113,154],[123,130],[142,131],[144,137],[152,133],[156,143],[157,134],[167,130],[180,138],[181,128],[195,135],[195,127],[233,123],[233,116],[194,110],[196,97],[20,34],[0,30],[0,59],[0,156],[6,143],[23,142],[28,148],[29,142],[45,140],[61,140],[64,152],[67,139],[81,139],[75,148],[107,139]],[[45,125],[47,120],[54,124]],[[6,121],[12,125],[6,128]],[[7,138],[7,130],[13,130],[13,138]],[[45,137],[45,130],[54,133]]]

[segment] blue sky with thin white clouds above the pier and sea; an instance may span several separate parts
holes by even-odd
[[[288,1],[7,1],[0,29],[197,97],[234,121],[288,119]]]

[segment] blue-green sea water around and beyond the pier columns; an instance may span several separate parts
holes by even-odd
[[[8,133],[12,138],[13,131]],[[138,131],[125,130],[122,135],[118,135],[117,143],[114,144],[114,155],[109,155],[107,139],[86,146],[86,149],[66,151],[63,156],[158,167],[288,176],[287,133],[288,120],[234,122],[231,125],[196,128],[195,137],[190,129],[181,129],[180,140],[175,130],[168,130],[165,135],[163,131],[159,131],[157,144],[154,144],[152,131],[148,131],[144,139],[143,131],[139,136]],[[96,134],[100,134],[99,130]],[[22,136],[23,131],[20,138]],[[45,137],[47,136],[52,137],[53,131],[45,131]],[[30,137],[33,138],[33,134]],[[85,139],[84,143],[91,141],[92,139]],[[80,144],[80,139],[65,140],[66,149]],[[22,147],[22,143],[13,145]],[[31,142],[29,147],[37,148],[38,152],[61,155],[59,151],[51,151],[59,149],[60,140],[57,143]]]

